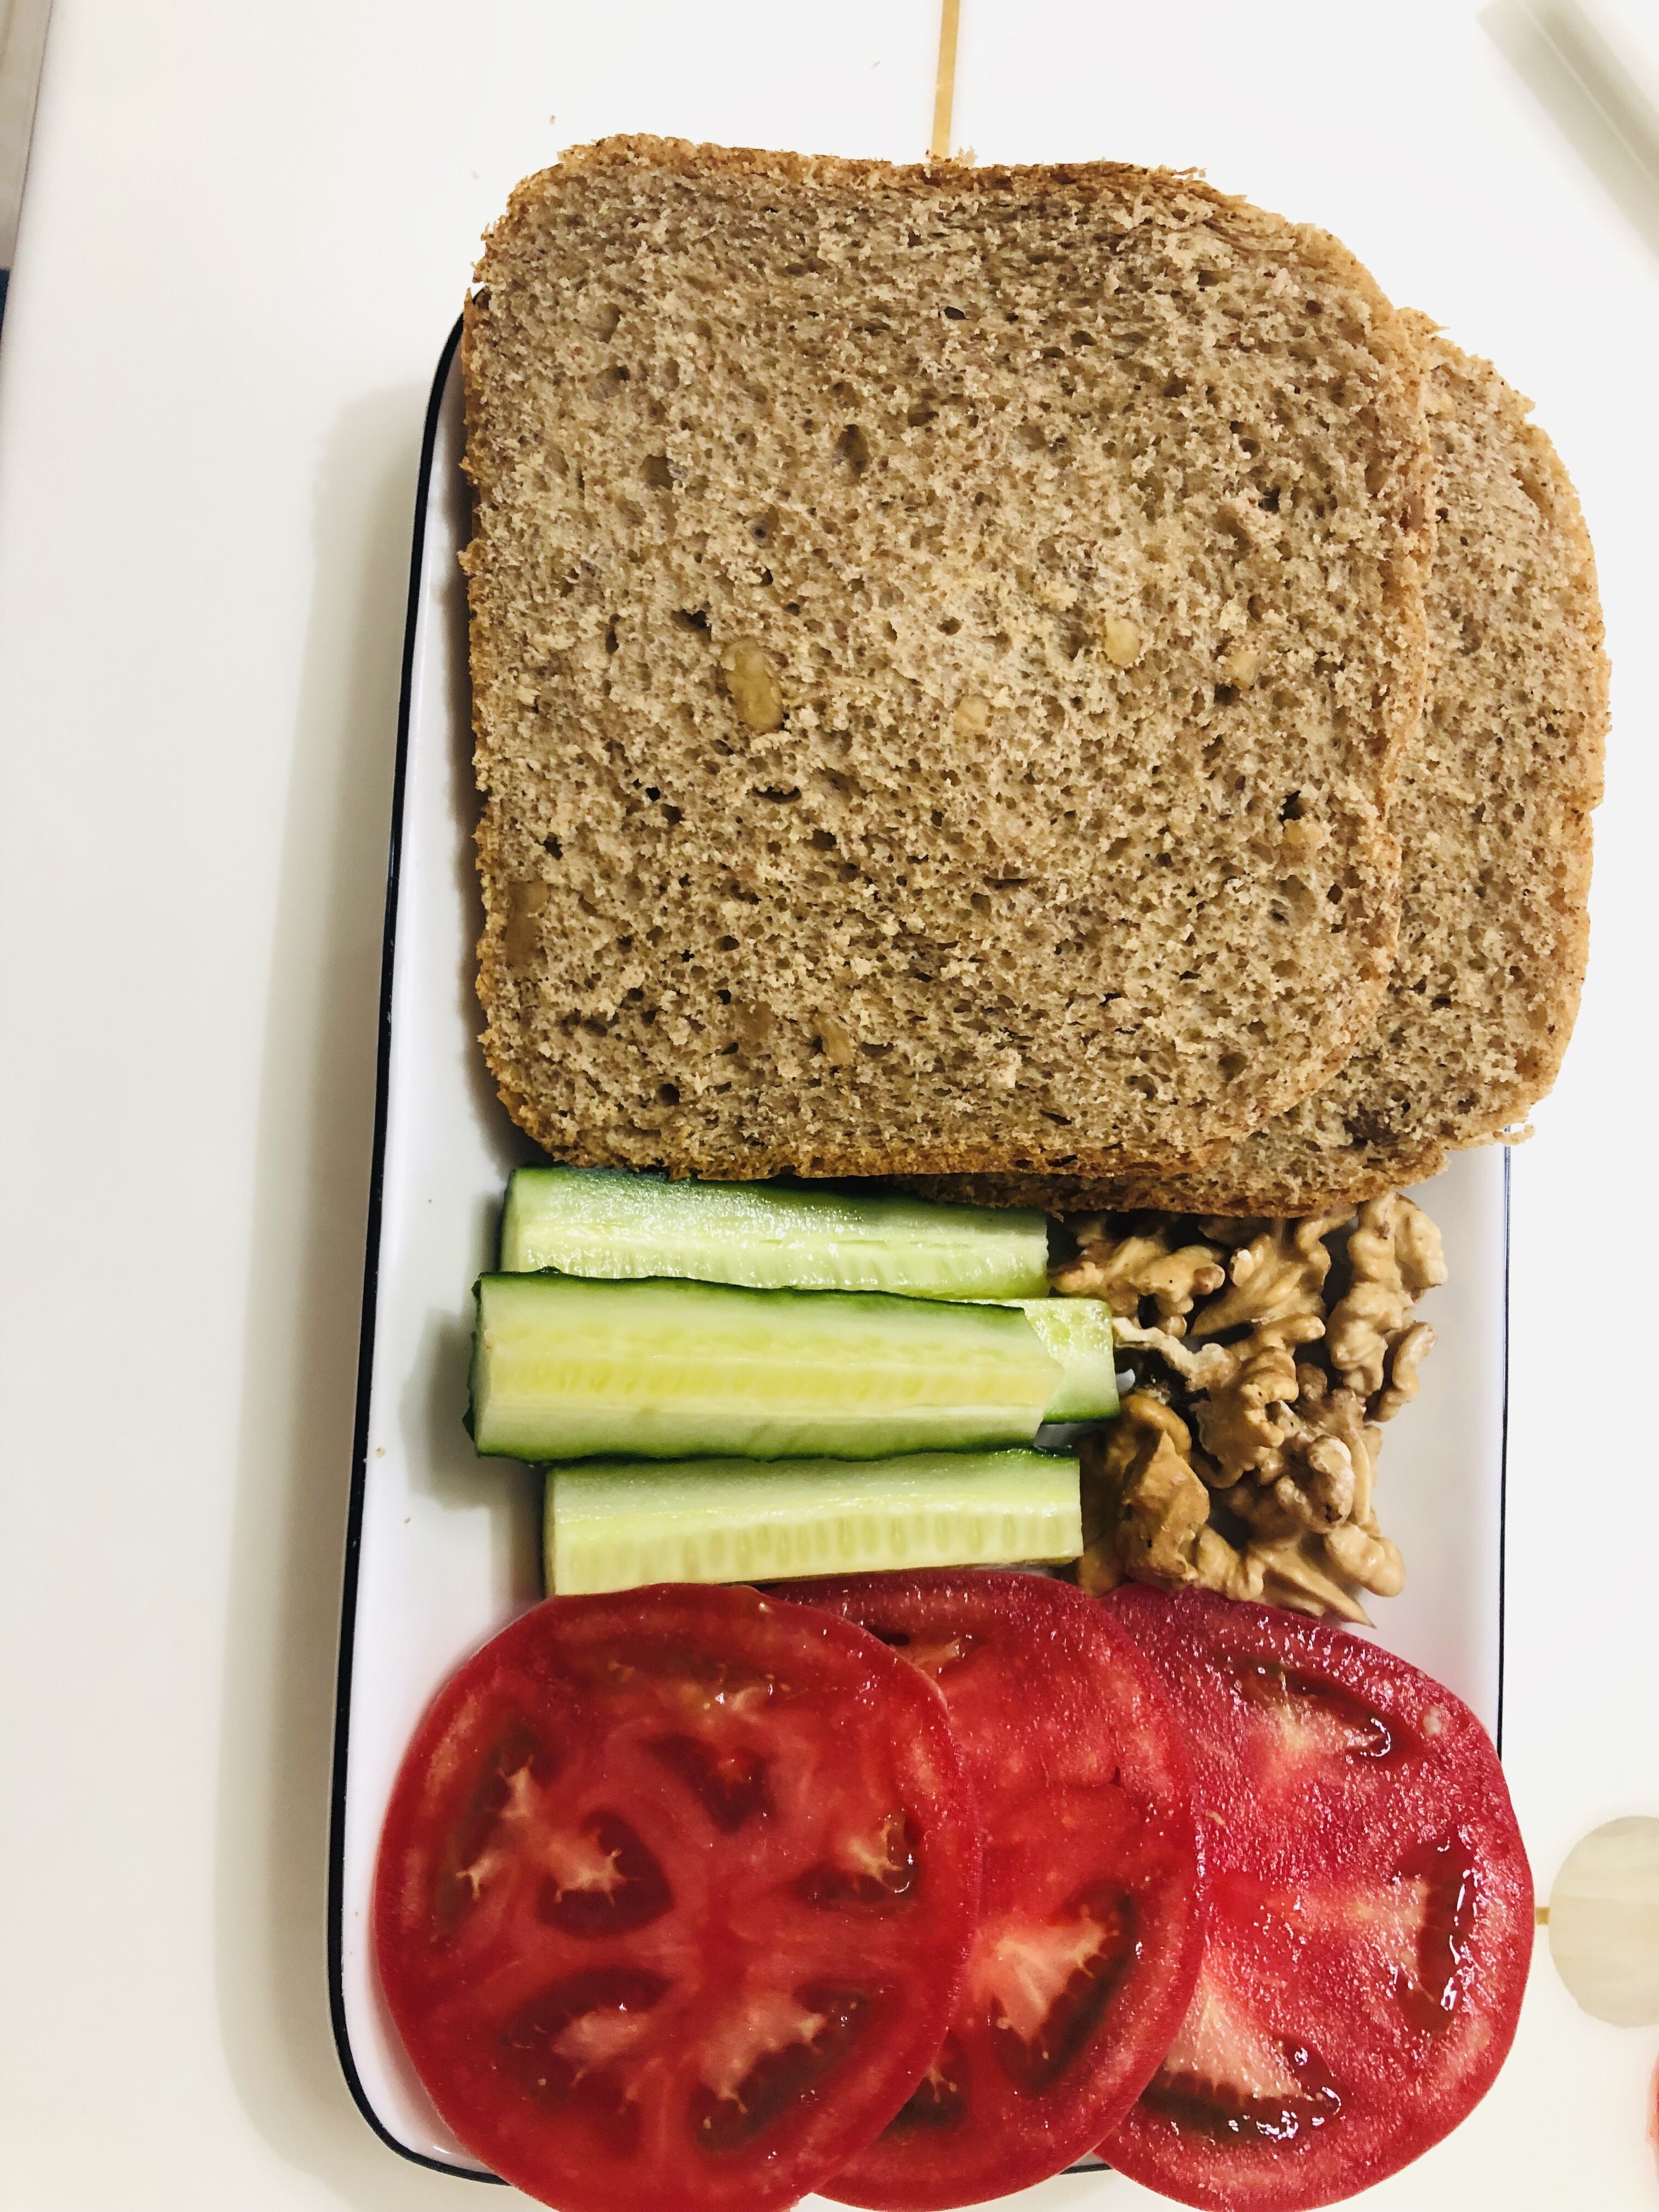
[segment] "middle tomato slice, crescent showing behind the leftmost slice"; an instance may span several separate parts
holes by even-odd
[[[945,1692],[984,1823],[949,2035],[825,2194],[925,2212],[1060,2172],[1130,2108],[1201,1951],[1192,1785],[1168,1701],[1102,1608],[1044,1575],[790,1584]]]

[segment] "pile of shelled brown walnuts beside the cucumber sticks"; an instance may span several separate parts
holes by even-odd
[[[1106,1298],[1139,1387],[1084,1447],[1079,1582],[1197,1584],[1365,1621],[1405,1562],[1383,1535],[1383,1422],[1418,1391],[1447,1267],[1391,1192],[1303,1221],[1093,1214],[1062,1296]]]

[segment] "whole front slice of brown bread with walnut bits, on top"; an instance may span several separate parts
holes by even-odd
[[[1418,358],[1192,177],[611,139],[467,310],[484,1051],[571,1161],[1201,1157],[1394,956]]]

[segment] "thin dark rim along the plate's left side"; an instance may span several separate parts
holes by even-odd
[[[385,1126],[387,1095],[392,1082],[392,969],[398,942],[398,869],[403,863],[403,794],[409,765],[409,686],[414,679],[416,628],[420,624],[420,586],[425,582],[427,551],[427,504],[431,500],[431,458],[438,445],[438,418],[442,414],[445,387],[460,345],[460,319],[438,356],[438,374],[431,380],[427,420],[420,431],[420,476],[416,478],[414,549],[409,555],[409,604],[403,624],[403,681],[398,686],[398,750],[392,768],[392,838],[387,847],[385,929],[380,936],[380,1029],[374,1060],[374,1155],[369,1166],[369,1221],[363,1252],[363,1325],[358,1329],[356,1354],[356,1425],[352,1436],[352,1498],[345,1517],[345,1588],[341,1595],[341,1659],[334,1677],[334,1772],[330,1778],[327,1807],[327,2011],[334,2026],[334,2051],[341,2059],[345,2086],[352,2090],[363,2119],[374,2128],[387,2150],[396,2150],[411,2166],[429,2166],[438,2174],[453,2174],[456,2181],[487,2181],[500,2188],[498,2174],[478,2174],[467,2166],[449,2166],[447,2159],[431,2159],[425,2150],[400,2143],[374,2110],[363,2077],[352,2055],[352,2035],[345,2026],[345,1765],[352,1732],[352,1655],[356,1637],[356,1571],[363,1546],[363,1489],[367,1482],[369,1455],[369,1394],[374,1389],[374,1318],[380,1276],[380,1197],[385,1177]]]

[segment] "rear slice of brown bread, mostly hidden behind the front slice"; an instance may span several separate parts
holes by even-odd
[[[1400,951],[1383,1011],[1332,1082],[1208,1166],[1002,1181],[1002,1201],[1321,1212],[1433,1175],[1555,1082],[1588,951],[1608,726],[1595,557],[1531,403],[1427,316],[1411,321],[1440,529],[1429,699],[1394,803]]]

